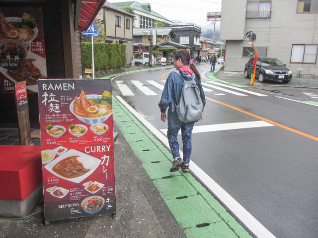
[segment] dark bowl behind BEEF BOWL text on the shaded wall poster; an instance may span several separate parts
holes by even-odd
[[[25,45],[17,40],[0,41],[0,66],[6,69],[20,67],[27,55]]]

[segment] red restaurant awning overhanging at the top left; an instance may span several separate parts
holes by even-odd
[[[106,0],[76,0],[75,29],[85,31],[95,19]]]

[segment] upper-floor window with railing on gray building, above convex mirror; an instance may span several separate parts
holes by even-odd
[[[247,1],[246,18],[270,18],[271,1]]]

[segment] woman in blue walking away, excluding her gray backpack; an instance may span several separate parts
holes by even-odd
[[[173,66],[176,70],[179,70],[179,73],[176,71],[170,72],[167,80],[165,81],[158,105],[161,111],[160,119],[163,122],[167,119],[168,122],[167,138],[174,159],[170,172],[175,172],[181,167],[182,171],[187,173],[189,172],[189,162],[192,150],[192,129],[195,121],[189,123],[180,121],[175,110],[175,105],[178,105],[180,102],[184,80],[192,80],[194,77],[194,81],[200,90],[200,98],[203,105],[205,105],[206,101],[200,80],[200,73],[195,67],[193,59],[191,60],[189,52],[183,49],[176,50],[173,53]],[[166,115],[165,112],[167,109],[168,112]],[[201,117],[201,120],[202,119],[203,117]],[[177,140],[180,128],[183,159],[180,158],[179,143]]]

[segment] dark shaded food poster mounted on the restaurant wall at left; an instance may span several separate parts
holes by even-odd
[[[0,7],[0,26],[0,92],[26,81],[37,93],[37,80],[47,78],[41,7]]]

